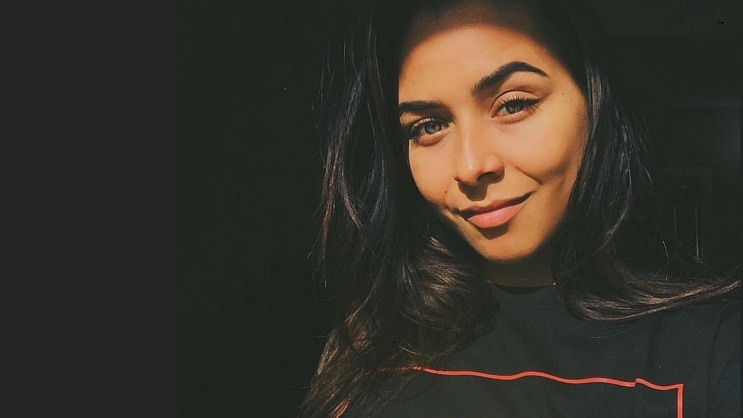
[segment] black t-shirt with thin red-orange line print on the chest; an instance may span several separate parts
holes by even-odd
[[[570,315],[553,286],[494,291],[492,331],[375,416],[741,416],[739,302],[610,323]],[[351,402],[342,416],[360,415]]]

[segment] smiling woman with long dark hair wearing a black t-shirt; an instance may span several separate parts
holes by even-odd
[[[371,2],[324,78],[307,416],[740,414],[737,276],[660,231],[572,1]]]

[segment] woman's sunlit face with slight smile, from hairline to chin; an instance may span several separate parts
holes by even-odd
[[[485,259],[527,262],[563,218],[587,137],[585,99],[508,17],[465,3],[414,20],[399,108],[418,190]]]

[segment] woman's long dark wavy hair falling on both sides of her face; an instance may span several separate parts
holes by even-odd
[[[349,30],[330,45],[318,97],[324,171],[313,255],[317,281],[339,313],[305,416],[335,416],[351,400],[372,411],[405,383],[406,368],[457,351],[490,324],[493,301],[478,255],[415,188],[397,116],[403,31],[420,10],[456,3],[354,2]],[[610,83],[590,8],[524,3],[540,23],[536,36],[571,73],[589,110],[581,167],[554,236],[564,305],[586,319],[631,320],[736,289],[735,277],[712,273],[659,228],[647,134]]]

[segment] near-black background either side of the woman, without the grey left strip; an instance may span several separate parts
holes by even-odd
[[[740,259],[740,2],[596,1],[648,100],[680,236]],[[330,1],[178,8],[178,413],[294,416],[328,318],[306,256]]]

